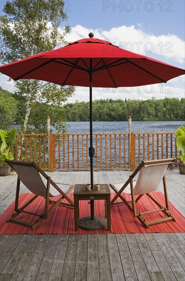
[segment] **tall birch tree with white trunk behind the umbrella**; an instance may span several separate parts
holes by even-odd
[[[4,6],[0,18],[1,63],[13,62],[28,56],[50,51],[67,42],[70,32],[62,0],[13,0]],[[14,84],[16,95],[26,101],[22,132],[28,132],[30,112],[34,103],[45,102],[61,106],[74,91],[72,86],[57,86],[38,80],[19,80]]]

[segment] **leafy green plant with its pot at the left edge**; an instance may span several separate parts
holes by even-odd
[[[5,159],[14,159],[10,149],[15,143],[15,134],[16,129],[0,130],[0,176],[10,175],[11,168]]]

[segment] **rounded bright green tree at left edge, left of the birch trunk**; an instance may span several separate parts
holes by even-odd
[[[0,124],[1,129],[9,129],[15,122],[17,114],[17,102],[9,91],[0,87]]]

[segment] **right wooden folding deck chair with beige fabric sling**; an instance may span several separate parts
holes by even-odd
[[[142,224],[148,228],[150,225],[175,221],[175,218],[171,216],[169,213],[169,202],[168,202],[168,194],[167,194],[167,185],[166,185],[166,170],[172,165],[175,161],[175,158],[167,158],[161,160],[151,160],[151,161],[142,161],[135,172],[129,176],[129,179],[123,184],[111,184],[111,188],[116,193],[115,197],[111,201],[111,206],[115,204],[123,204],[133,212],[134,217],[138,218]],[[135,176],[139,173],[137,181],[134,181]],[[164,186],[164,194],[165,194],[165,203],[164,207],[160,202],[158,202],[150,193],[156,191],[158,185],[163,179]],[[131,195],[131,200],[126,200],[124,198],[124,193]],[[146,194],[158,207],[155,210],[150,210],[148,212],[140,213],[138,212],[136,202],[140,200],[140,198]],[[135,196],[138,195],[137,198]],[[122,201],[115,202],[117,198],[121,198]],[[153,221],[145,221],[143,215],[155,213],[155,212],[163,212],[167,217],[153,220]]]

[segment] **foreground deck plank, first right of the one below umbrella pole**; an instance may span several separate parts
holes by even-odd
[[[99,281],[112,280],[107,235],[97,235]]]

